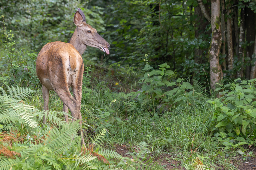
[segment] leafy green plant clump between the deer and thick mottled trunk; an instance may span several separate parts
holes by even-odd
[[[142,70],[145,73],[139,80],[142,87],[135,95],[138,96],[141,106],[145,105],[150,112],[170,111],[172,107],[184,103],[188,106],[202,103],[202,99],[207,97],[204,87],[198,81],[194,82],[194,85],[181,78],[171,82],[174,72],[168,70],[170,66],[167,63],[159,65],[159,69],[154,69],[148,64],[147,54],[145,57],[146,65]]]

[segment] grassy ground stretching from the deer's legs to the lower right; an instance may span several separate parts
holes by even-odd
[[[134,152],[137,144],[146,142],[148,154],[165,169],[195,169],[196,162],[204,168],[241,169],[238,165],[242,165],[243,159],[253,161],[253,153],[244,157],[236,151],[224,150],[213,140],[212,108],[208,104],[184,103],[168,112],[150,113],[137,104],[136,98],[122,93],[122,84],[118,88],[112,85],[111,89],[110,84],[115,82],[94,80],[87,84],[89,87],[83,87],[81,113],[87,143],[105,128],[108,133],[102,147],[129,156],[126,153]],[[40,87],[28,104],[43,109]],[[62,102],[55,92],[50,92],[49,109],[62,110]]]

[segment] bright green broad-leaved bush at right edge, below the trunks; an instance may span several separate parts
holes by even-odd
[[[239,147],[256,143],[256,79],[236,79],[216,88],[221,97],[208,100],[213,106],[212,126],[216,139],[226,146]],[[241,148],[241,147],[239,147]]]

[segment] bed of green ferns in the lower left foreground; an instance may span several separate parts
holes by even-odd
[[[6,134],[11,136],[10,129],[15,130],[20,134],[22,140],[12,141],[11,151],[20,154],[16,155],[15,159],[2,157],[0,170],[11,168],[46,170],[162,169],[153,159],[148,158],[146,143],[138,145],[138,153],[131,153],[134,161],[130,158],[123,158],[113,150],[102,149],[100,145],[103,143],[106,129],[100,130],[99,134],[91,138],[92,144],[98,145],[99,148],[82,154],[81,137],[77,136],[77,131],[81,128],[78,121],[67,124],[63,120],[62,115],[66,114],[64,112],[39,111],[34,106],[27,105],[25,99],[36,91],[21,87],[7,87],[6,89],[7,91],[0,88],[0,123],[4,124],[7,130]],[[48,121],[42,128],[39,124],[41,124],[44,115]],[[9,146],[10,142],[1,141],[0,139],[0,144]],[[102,159],[99,159],[101,156],[105,163]],[[107,159],[111,159],[112,162],[115,161],[116,164],[109,165],[109,162],[106,164]],[[127,164],[123,160],[126,160]]]

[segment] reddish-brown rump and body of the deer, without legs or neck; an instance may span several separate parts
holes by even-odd
[[[49,90],[57,92],[60,87],[77,85],[78,81],[82,81],[83,72],[83,59],[69,43],[48,43],[37,56],[36,73],[42,85]]]

